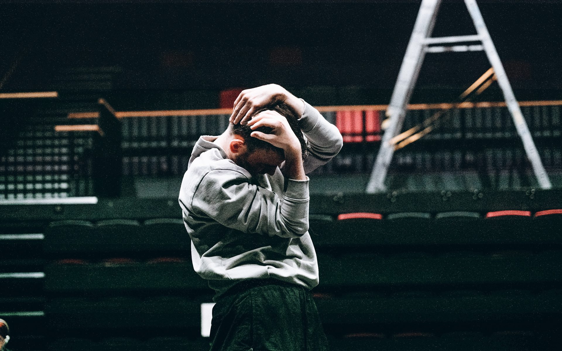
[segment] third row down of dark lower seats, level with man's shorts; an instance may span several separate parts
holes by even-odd
[[[188,328],[201,323],[201,303],[210,297],[113,297],[99,300],[56,298],[46,304],[52,326],[64,329]],[[562,289],[531,294],[498,290],[491,294],[454,290],[439,296],[427,291],[403,291],[391,297],[349,293],[339,298],[315,298],[325,325],[388,325],[392,323],[467,323],[545,321],[562,309]]]

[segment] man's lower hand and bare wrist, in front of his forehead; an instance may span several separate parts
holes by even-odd
[[[274,147],[283,149],[285,153],[301,152],[301,143],[298,141],[297,136],[294,134],[287,118],[280,115],[277,111],[262,111],[252,120],[248,121],[250,129],[255,130],[259,127],[271,127],[273,130],[271,134],[265,134],[261,131],[252,131],[251,136],[254,138],[264,140]]]

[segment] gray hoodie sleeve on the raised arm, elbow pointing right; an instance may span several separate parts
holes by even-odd
[[[338,154],[343,146],[343,138],[336,126],[328,122],[316,108],[302,101],[305,111],[298,119],[298,124],[309,145],[309,156],[303,160],[305,173],[308,174]]]

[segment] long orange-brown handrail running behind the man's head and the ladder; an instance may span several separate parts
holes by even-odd
[[[562,100],[548,101],[520,101],[519,106],[562,106]],[[408,110],[449,110],[451,108],[474,107],[506,107],[505,102],[462,102],[462,103],[415,103],[409,104]],[[384,111],[388,105],[346,105],[346,106],[316,106],[320,112],[337,111]],[[232,108],[214,108],[207,110],[157,110],[157,111],[121,111],[115,112],[115,117],[164,117],[164,116],[201,116],[201,115],[228,115]],[[72,112],[68,118],[97,118],[98,112]]]

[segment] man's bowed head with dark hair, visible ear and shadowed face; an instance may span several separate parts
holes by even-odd
[[[267,108],[262,108],[253,116],[258,115],[262,111],[275,111],[280,115],[287,118],[287,122],[293,133],[297,136],[299,142],[301,143],[302,157],[306,157],[306,142],[302,135],[300,127],[298,127],[297,116],[287,105],[283,103],[275,104]],[[253,117],[252,116],[252,117]],[[247,124],[230,124],[229,125],[230,134],[239,138],[233,139],[230,142],[230,151],[232,153],[233,161],[246,168],[251,174],[269,174],[273,175],[275,170],[281,163],[285,160],[285,154],[283,149],[274,147],[270,143],[254,138],[251,136],[253,131],[261,131],[265,134],[271,134],[271,127],[261,126],[256,129],[251,129]],[[237,140],[241,140],[238,143]],[[234,142],[234,143],[233,143]]]

